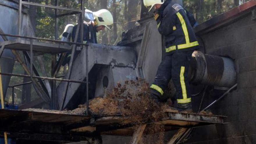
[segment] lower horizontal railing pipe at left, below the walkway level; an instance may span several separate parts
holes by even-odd
[[[17,76],[17,77],[30,77],[30,75],[25,74],[10,74],[10,73],[3,73],[0,72],[2,75],[9,75],[9,76]],[[57,78],[50,78],[50,77],[38,77],[38,76],[32,76],[34,79],[48,79],[48,80],[54,80],[54,81],[66,81],[66,82],[72,82],[72,83],[86,83],[84,81],[74,81],[69,79],[57,79]]]

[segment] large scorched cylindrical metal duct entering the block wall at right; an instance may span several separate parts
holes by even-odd
[[[194,51],[190,66],[191,83],[231,87],[237,82],[234,61],[230,58]]]

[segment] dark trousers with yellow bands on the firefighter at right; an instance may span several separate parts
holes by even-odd
[[[176,88],[177,103],[185,104],[191,102],[188,73],[192,53],[193,51],[175,52],[171,55],[166,55],[162,60],[154,83],[150,86],[150,88],[159,93],[160,98],[172,78]]]

